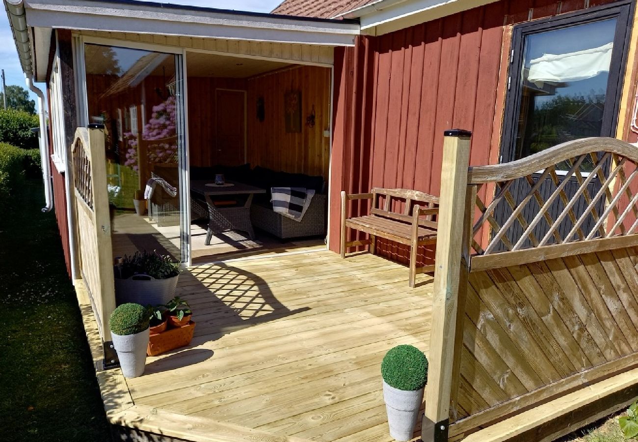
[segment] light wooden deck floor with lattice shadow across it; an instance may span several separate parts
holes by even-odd
[[[144,376],[126,379],[131,399],[184,424],[203,418],[290,440],[390,441],[383,354],[397,344],[427,353],[429,344],[431,277],[419,275],[415,289],[407,278],[406,267],[375,255],[342,260],[328,251],[195,266],[178,287],[193,308],[195,338],[148,358]]]

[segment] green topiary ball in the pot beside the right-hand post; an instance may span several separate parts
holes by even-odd
[[[381,376],[397,390],[420,390],[427,383],[426,355],[414,346],[396,346],[383,356]]]

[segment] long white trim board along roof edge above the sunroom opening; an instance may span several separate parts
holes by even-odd
[[[223,10],[159,8],[144,3],[35,0],[26,4],[31,27],[163,34],[260,42],[353,46],[359,24]]]

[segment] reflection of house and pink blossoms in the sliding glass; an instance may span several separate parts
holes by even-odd
[[[158,164],[177,188],[175,56],[86,44],[85,63],[89,121],[105,125],[108,184],[119,189],[111,202],[132,209]]]

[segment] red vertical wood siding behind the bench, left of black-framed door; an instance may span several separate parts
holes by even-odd
[[[603,3],[613,1],[590,6]],[[444,130],[473,132],[471,165],[496,162],[512,24],[584,4],[502,0],[336,49],[330,249],[339,249],[341,190],[404,187],[438,195]],[[353,206],[350,215],[362,210]],[[387,241],[378,252],[407,258],[405,247]]]

